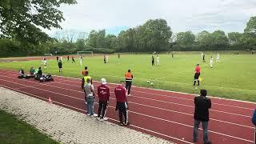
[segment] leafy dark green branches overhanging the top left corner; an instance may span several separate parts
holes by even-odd
[[[36,45],[46,42],[50,37],[39,27],[61,28],[59,23],[64,18],[57,8],[61,4],[75,3],[75,0],[1,0],[0,35]]]

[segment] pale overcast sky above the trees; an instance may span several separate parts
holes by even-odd
[[[164,18],[176,32],[202,30],[242,32],[256,16],[256,0],[77,0],[63,5],[63,30],[89,32],[106,29],[109,34],[142,25],[148,19]],[[56,30],[46,30],[54,34]]]

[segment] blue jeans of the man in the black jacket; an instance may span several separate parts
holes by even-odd
[[[200,122],[196,119],[194,119],[194,142],[198,141],[198,127],[200,125]],[[208,142],[208,122],[202,122],[202,133],[203,133],[203,141]]]

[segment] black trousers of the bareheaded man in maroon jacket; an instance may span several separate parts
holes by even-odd
[[[117,102],[116,108],[118,109],[119,122],[123,123],[123,118],[125,118],[125,123],[128,123],[128,104],[127,102]]]

